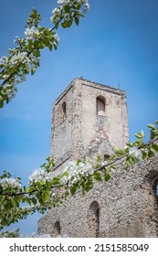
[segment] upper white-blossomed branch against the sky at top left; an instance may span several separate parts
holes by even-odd
[[[40,14],[34,8],[26,21],[25,37],[16,37],[16,48],[9,49],[8,56],[0,59],[0,108],[16,95],[16,85],[35,73],[40,63],[40,51],[58,48],[58,26],[79,25],[79,18],[89,10],[88,0],[58,0],[58,8],[52,10],[53,27],[41,27]]]

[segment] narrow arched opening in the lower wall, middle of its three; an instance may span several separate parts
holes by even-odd
[[[97,201],[93,201],[90,204],[87,219],[88,219],[88,237],[89,238],[100,237],[100,208]]]

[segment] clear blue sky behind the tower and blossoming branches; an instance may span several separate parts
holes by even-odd
[[[0,56],[24,37],[32,7],[51,27],[53,0],[0,0]],[[76,77],[119,87],[127,93],[130,139],[158,119],[158,1],[90,0],[79,27],[58,29],[57,51],[43,50],[34,76],[18,86],[0,110],[0,172],[27,176],[50,153],[52,103]],[[117,129],[116,129],[117,132]],[[23,234],[37,231],[38,216],[20,221]]]

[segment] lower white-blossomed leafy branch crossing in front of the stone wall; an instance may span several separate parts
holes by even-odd
[[[44,213],[48,208],[58,207],[68,196],[80,191],[84,195],[95,182],[108,182],[121,159],[128,168],[140,160],[152,158],[158,152],[157,123],[148,125],[151,141],[145,144],[144,133],[136,133],[136,141],[126,144],[124,149],[116,148],[107,162],[103,162],[100,155],[93,161],[88,158],[84,162],[71,161],[63,173],[56,176],[54,160],[47,157],[47,162],[28,177],[28,187],[22,186],[20,177],[13,178],[4,172],[0,176],[0,229],[36,211]]]

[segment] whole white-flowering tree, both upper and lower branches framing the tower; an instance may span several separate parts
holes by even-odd
[[[73,22],[79,25],[90,5],[87,0],[58,0],[58,8],[52,11],[52,28],[40,27],[40,15],[36,9],[26,22],[25,38],[16,37],[16,48],[10,49],[7,57],[0,59],[0,107],[8,103],[16,94],[16,85],[26,80],[26,75],[35,73],[40,62],[40,51],[58,48],[58,26],[70,27]],[[98,156],[95,160],[85,159],[70,162],[61,175],[55,175],[55,163],[47,157],[47,163],[28,177],[28,186],[22,186],[20,177],[14,178],[4,172],[0,176],[0,229],[26,219],[38,211],[60,205],[69,195],[81,191],[88,192],[95,181],[107,182],[117,169],[117,162],[124,159],[124,167],[134,165],[140,158],[151,158],[158,152],[158,121],[149,124],[150,142],[144,143],[144,133],[136,133],[136,141],[124,149],[115,149],[107,162]],[[13,236],[12,233],[9,236]]]

